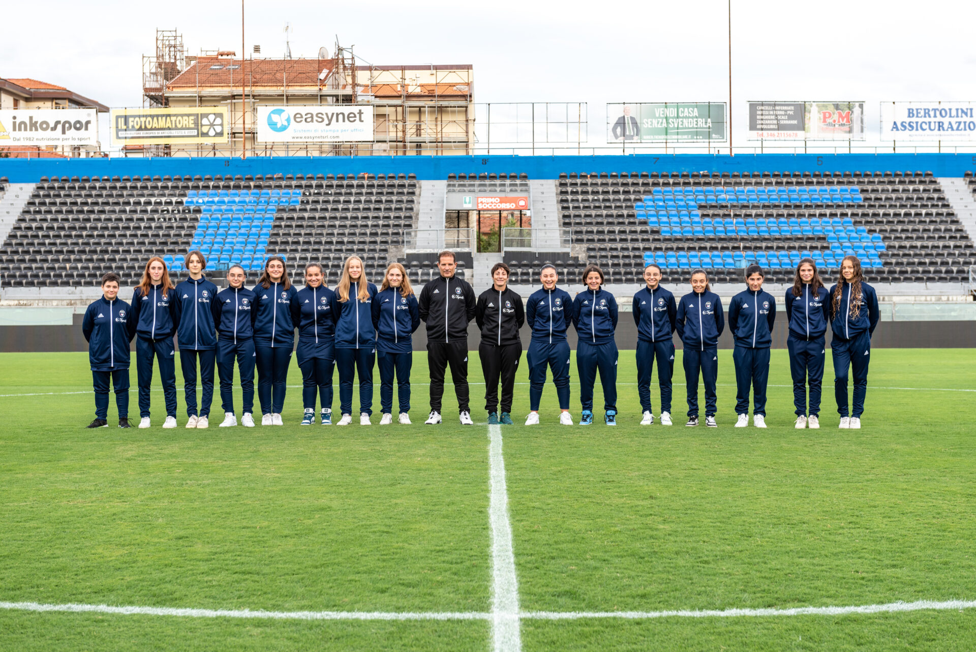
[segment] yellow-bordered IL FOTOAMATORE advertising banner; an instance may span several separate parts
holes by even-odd
[[[113,108],[112,144],[226,143],[224,106]]]

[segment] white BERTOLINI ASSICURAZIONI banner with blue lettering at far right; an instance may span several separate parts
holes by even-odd
[[[972,102],[881,102],[882,141],[973,141]]]

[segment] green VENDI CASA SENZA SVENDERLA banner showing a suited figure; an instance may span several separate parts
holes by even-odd
[[[725,102],[607,104],[607,143],[726,140]]]

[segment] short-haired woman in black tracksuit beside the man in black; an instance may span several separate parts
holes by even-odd
[[[478,356],[485,375],[485,410],[488,424],[511,424],[511,395],[515,370],[522,357],[522,340],[518,329],[525,323],[522,298],[508,289],[508,265],[496,263],[491,268],[494,284],[478,297],[474,321],[481,329]],[[498,380],[502,378],[502,414],[498,414]]]

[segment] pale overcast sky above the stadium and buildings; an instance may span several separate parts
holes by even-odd
[[[240,54],[239,2],[7,3],[0,77],[32,77],[110,106],[142,105],[142,55],[177,28],[189,54]],[[343,45],[377,64],[471,63],[476,102],[726,101],[725,0],[698,2],[254,2],[246,49],[295,57]],[[973,0],[732,0],[737,149],[749,100],[976,101]]]

